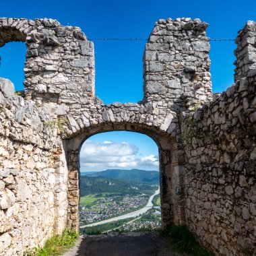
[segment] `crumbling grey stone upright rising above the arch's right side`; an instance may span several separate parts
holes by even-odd
[[[145,100],[189,108],[212,98],[207,26],[191,18],[156,22],[144,53]]]

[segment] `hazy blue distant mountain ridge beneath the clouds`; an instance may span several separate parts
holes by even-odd
[[[159,172],[156,170],[120,170],[108,169],[100,172],[81,172],[81,176],[104,177],[107,179],[119,179],[133,184],[159,184]]]

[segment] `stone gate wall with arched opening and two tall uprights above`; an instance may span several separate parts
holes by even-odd
[[[207,24],[190,19],[160,20],[143,55],[143,100],[138,104],[108,105],[95,96],[94,45],[79,28],[61,26],[51,19],[6,18],[0,19],[0,28],[1,44],[12,40],[13,35],[26,42],[26,99],[36,102],[53,119],[45,121],[42,115],[45,125],[62,129],[54,158],[58,175],[61,168],[61,175],[69,170],[67,187],[61,184],[68,195],[64,198],[63,194],[62,198],[57,189],[56,223],[65,218],[61,198],[68,203],[67,226],[78,227],[79,148],[85,139],[104,131],[135,131],[156,141],[160,151],[163,226],[182,222],[182,113],[212,98]]]

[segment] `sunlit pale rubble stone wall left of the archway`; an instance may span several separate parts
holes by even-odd
[[[0,84],[0,255],[22,255],[65,228],[67,168],[52,119]]]

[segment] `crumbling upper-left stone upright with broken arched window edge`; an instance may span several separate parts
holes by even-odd
[[[0,19],[0,46],[26,43],[25,94],[38,104],[94,97],[94,45],[77,27],[52,19]]]

